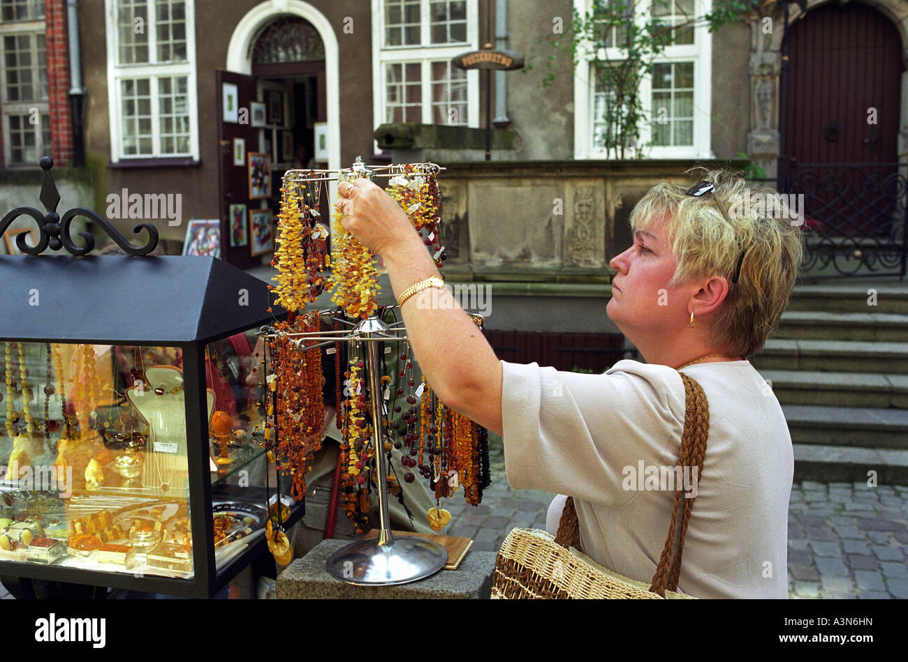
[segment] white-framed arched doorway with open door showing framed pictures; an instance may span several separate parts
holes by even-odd
[[[216,76],[225,118],[219,122],[226,227],[222,255],[237,267],[254,267],[270,258],[285,170],[340,167],[338,52],[331,23],[302,0],[285,0],[280,10],[271,3],[257,5],[233,30],[227,70]],[[237,105],[239,117],[224,113],[231,103]],[[319,154],[317,131],[324,148]],[[265,170],[267,191],[253,185]],[[332,196],[328,191],[325,210]],[[268,210],[271,222],[265,223]],[[243,227],[248,229],[245,237]]]

